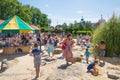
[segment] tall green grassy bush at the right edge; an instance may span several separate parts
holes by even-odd
[[[99,44],[101,40],[105,41],[106,56],[120,55],[120,18],[110,19],[99,26],[92,37],[94,44]]]

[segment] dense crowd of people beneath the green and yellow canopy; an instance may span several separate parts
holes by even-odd
[[[31,45],[35,41],[34,34],[14,34],[11,36],[0,37],[2,47],[16,47]]]

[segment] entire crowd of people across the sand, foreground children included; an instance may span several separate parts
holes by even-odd
[[[40,34],[37,32],[36,34],[14,34],[9,37],[0,37],[0,45],[2,47],[16,47],[16,46],[33,46],[32,51],[30,52],[30,56],[34,57],[34,67],[36,69],[36,77],[39,77],[40,74],[40,63],[41,63],[41,53],[44,54],[41,46],[45,46],[46,51],[49,57],[54,56],[55,46],[61,45],[61,49],[63,51],[62,56],[66,60],[66,64],[69,65],[69,62],[73,64],[74,57],[72,53],[72,47],[74,45],[81,46],[82,50],[85,50],[86,63],[89,64],[87,70],[94,75],[98,74],[98,69],[95,67],[102,60],[104,61],[105,55],[105,42],[101,41],[100,44],[94,45],[93,54],[94,54],[94,62],[89,63],[90,57],[90,47],[91,47],[91,37],[90,35],[78,35],[77,43],[72,38],[71,34],[67,34],[66,36],[60,34]],[[40,48],[38,48],[40,47]],[[51,56],[52,55],[52,56]],[[99,61],[98,61],[99,59]]]

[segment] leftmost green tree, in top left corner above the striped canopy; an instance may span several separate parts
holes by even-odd
[[[0,18],[6,20],[15,15],[18,4],[16,0],[0,0]]]

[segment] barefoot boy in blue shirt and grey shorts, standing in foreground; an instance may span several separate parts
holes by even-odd
[[[38,49],[38,44],[34,44],[34,49],[31,51],[30,56],[34,57],[34,67],[36,71],[35,78],[37,79],[40,74],[40,64],[41,64],[41,53],[44,54],[41,50]]]

